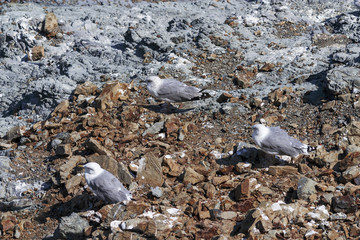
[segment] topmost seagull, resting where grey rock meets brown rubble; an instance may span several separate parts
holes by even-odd
[[[156,99],[165,102],[186,102],[209,98],[204,89],[188,86],[176,79],[161,79],[158,76],[146,78],[147,89]]]

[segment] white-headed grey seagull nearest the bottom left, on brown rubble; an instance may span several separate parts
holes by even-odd
[[[131,193],[110,172],[101,168],[96,162],[84,165],[85,180],[91,190],[106,203],[122,202],[131,200]]]

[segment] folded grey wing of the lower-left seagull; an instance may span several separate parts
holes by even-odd
[[[131,196],[122,183],[106,170],[91,181],[89,186],[99,198],[108,203],[122,202]]]

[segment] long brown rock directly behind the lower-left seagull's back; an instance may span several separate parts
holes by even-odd
[[[114,158],[107,155],[90,155],[86,157],[88,162],[96,162],[102,168],[112,173],[116,176],[120,182],[130,185],[132,183],[133,177],[131,176],[127,167],[122,163],[116,161]]]

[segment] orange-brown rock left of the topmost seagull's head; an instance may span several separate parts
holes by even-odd
[[[104,111],[111,109],[116,101],[125,101],[128,99],[128,85],[120,82],[106,83],[100,95],[95,99],[96,108]]]

